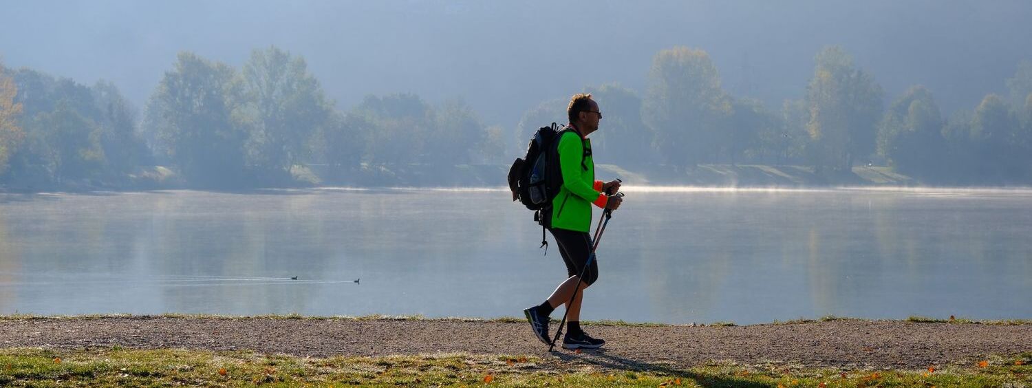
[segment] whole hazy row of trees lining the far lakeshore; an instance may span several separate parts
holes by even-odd
[[[646,173],[796,165],[831,182],[883,165],[928,185],[1032,184],[1032,62],[1005,79],[1009,95],[948,118],[920,85],[888,99],[840,46],[815,55],[805,95],[775,107],[731,95],[702,50],[660,51],[641,70],[643,91],[583,90],[603,111],[592,135],[600,163]],[[0,187],[376,185],[413,166],[471,173],[459,167],[505,166],[538,127],[565,123],[569,96],[555,97],[510,128],[485,125],[461,99],[414,94],[369,95],[340,110],[303,58],[270,46],[240,68],[180,53],[140,108],[110,83],[0,64]]]

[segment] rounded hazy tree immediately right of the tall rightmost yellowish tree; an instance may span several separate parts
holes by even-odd
[[[911,174],[935,174],[941,167],[946,141],[942,114],[923,86],[914,86],[893,102],[878,129],[878,153],[890,165]]]

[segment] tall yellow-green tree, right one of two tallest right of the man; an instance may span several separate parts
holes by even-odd
[[[875,150],[881,87],[853,68],[852,58],[839,46],[826,47],[815,61],[806,98],[808,154],[818,170],[849,171],[857,158]]]

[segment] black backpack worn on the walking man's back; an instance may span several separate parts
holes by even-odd
[[[530,138],[526,156],[516,159],[509,168],[509,190],[512,191],[513,201],[519,200],[526,208],[535,211],[534,221],[542,226],[541,246],[545,247],[545,254],[548,254],[548,242],[544,228],[551,226],[552,199],[562,187],[557,140],[568,131],[573,131],[573,128],[560,128],[555,123],[539,128]]]

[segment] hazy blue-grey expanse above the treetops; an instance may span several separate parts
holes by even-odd
[[[780,108],[813,56],[841,44],[886,91],[915,84],[944,112],[973,108],[1032,60],[1029,1],[22,1],[0,0],[0,58],[142,106],[175,53],[240,66],[275,44],[301,55],[349,108],[366,94],[462,97],[487,124],[585,86],[644,92],[652,56],[709,52],[724,87]]]

